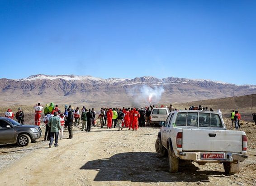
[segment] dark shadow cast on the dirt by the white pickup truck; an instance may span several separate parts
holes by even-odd
[[[166,157],[151,152],[115,154],[109,159],[89,161],[80,169],[98,171],[94,181],[209,182],[209,177],[224,177],[224,172],[200,171],[185,161],[180,163],[180,172],[170,173]]]

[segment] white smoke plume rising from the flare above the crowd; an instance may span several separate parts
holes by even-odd
[[[164,88],[162,86],[153,88],[147,85],[136,86],[128,92],[131,97],[131,107],[149,106],[149,102],[157,104],[161,100],[163,92]]]

